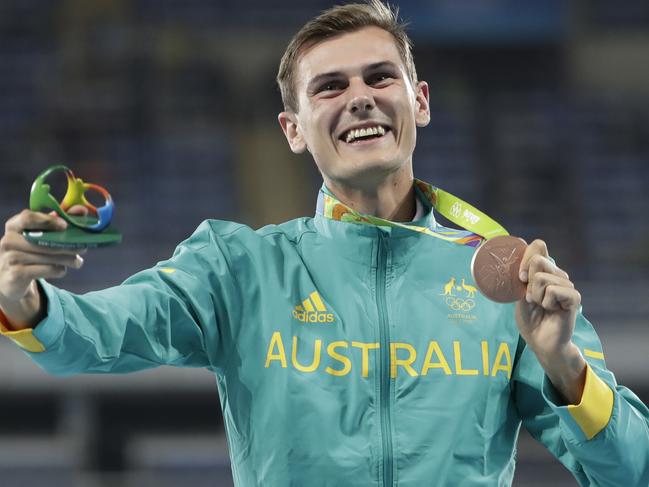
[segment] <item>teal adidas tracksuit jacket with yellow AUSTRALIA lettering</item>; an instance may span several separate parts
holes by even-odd
[[[422,202],[415,223],[439,229]],[[574,334],[586,388],[566,406],[513,305],[475,289],[473,251],[323,214],[211,220],[119,286],[41,281],[46,318],[2,333],[57,375],[208,368],[239,487],[509,486],[521,424],[582,486],[649,485],[649,411],[589,322]]]

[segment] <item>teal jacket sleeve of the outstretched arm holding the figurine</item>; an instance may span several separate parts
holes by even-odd
[[[76,295],[41,280],[47,315],[11,338],[56,375],[125,373],[157,365],[219,366],[219,324],[236,313],[233,274],[204,222],[173,256],[119,286]]]

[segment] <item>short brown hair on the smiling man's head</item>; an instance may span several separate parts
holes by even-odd
[[[399,20],[399,9],[384,4],[381,0],[367,3],[337,5],[325,10],[307,22],[289,42],[277,73],[277,84],[282,93],[284,109],[298,111],[298,97],[295,86],[295,66],[304,49],[325,39],[353,32],[363,27],[379,27],[394,37],[394,40],[408,75],[417,83],[417,71],[412,57],[412,41],[406,34],[406,24]]]

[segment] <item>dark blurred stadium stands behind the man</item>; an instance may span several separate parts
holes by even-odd
[[[609,368],[649,402],[649,2],[399,5],[431,87],[415,175],[546,240]],[[321,181],[288,150],[274,77],[329,6],[2,0],[0,220],[52,164],[106,186],[123,244],[57,282],[85,292],[168,257],[205,218],[311,215]],[[0,418],[3,486],[232,485],[206,371],[54,378],[3,339]],[[525,433],[518,458],[517,486],[576,485]]]

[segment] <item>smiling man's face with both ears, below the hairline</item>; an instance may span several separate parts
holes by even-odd
[[[364,186],[412,164],[416,126],[430,120],[428,86],[412,86],[390,33],[366,27],[307,49],[296,90],[298,113],[279,121],[325,181]]]

